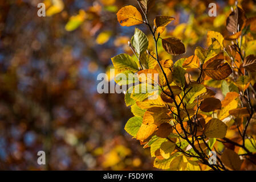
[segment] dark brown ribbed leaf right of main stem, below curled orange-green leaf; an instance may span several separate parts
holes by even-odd
[[[181,55],[186,52],[184,44],[177,38],[162,39],[162,47],[171,55]]]

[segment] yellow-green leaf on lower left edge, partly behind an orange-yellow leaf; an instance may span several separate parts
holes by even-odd
[[[141,117],[132,117],[127,121],[124,130],[127,131],[128,134],[132,135],[132,137],[136,137],[142,121],[143,118]]]

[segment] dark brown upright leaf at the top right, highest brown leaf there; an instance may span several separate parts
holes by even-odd
[[[230,13],[226,20],[226,28],[231,33],[237,33],[245,27],[246,17],[245,11],[237,7],[233,12]]]

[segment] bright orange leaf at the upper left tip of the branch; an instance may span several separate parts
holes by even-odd
[[[117,12],[117,20],[121,26],[133,26],[143,23],[140,12],[134,6],[124,6]]]

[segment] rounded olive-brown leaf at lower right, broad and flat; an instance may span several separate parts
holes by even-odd
[[[224,138],[227,132],[227,126],[220,119],[210,119],[205,125],[204,134],[209,138]]]

